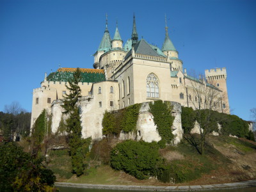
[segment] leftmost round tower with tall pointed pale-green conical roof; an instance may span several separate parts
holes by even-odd
[[[98,50],[95,52],[95,54],[93,54],[93,56],[94,56],[93,67],[94,68],[100,67],[100,63],[99,63],[100,56],[102,56],[102,54],[104,54],[104,52],[109,51],[109,49],[111,49],[111,37],[110,37],[109,31],[108,31],[108,15],[106,15],[106,29],[104,31],[104,35],[102,37],[102,40],[100,42]]]

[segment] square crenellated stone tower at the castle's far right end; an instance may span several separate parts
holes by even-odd
[[[205,70],[205,78],[208,83],[213,84],[216,88],[220,89],[222,94],[221,99],[221,111],[223,113],[230,113],[229,103],[228,103],[228,92],[227,92],[227,71],[226,68],[212,68],[210,70]]]

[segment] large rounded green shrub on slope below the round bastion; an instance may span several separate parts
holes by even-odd
[[[156,142],[127,140],[118,143],[111,151],[112,168],[124,170],[137,179],[156,176],[157,169],[162,164],[163,159],[159,155]]]

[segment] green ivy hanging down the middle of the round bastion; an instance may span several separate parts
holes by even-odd
[[[154,104],[150,103],[149,106],[154,116],[154,123],[159,135],[166,143],[170,143],[173,139],[172,124],[174,120],[174,116],[172,116],[172,104],[170,102],[156,100]]]

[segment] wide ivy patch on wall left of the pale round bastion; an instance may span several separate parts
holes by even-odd
[[[105,111],[102,119],[102,134],[118,136],[121,131],[136,131],[141,104],[134,104],[118,111]]]

